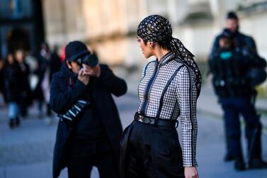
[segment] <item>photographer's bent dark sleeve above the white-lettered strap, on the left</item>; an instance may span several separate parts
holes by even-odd
[[[66,90],[62,91],[60,85],[63,82],[64,79],[58,77],[57,74],[53,75],[50,89],[50,106],[56,113],[64,113],[70,109],[87,89],[86,85],[77,80],[74,86],[66,87]]]

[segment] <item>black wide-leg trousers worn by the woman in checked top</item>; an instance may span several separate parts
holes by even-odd
[[[176,128],[133,121],[120,144],[121,178],[184,177]]]

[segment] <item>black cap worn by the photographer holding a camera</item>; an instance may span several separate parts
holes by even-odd
[[[65,59],[74,61],[81,55],[91,54],[90,50],[81,41],[72,41],[65,48]]]

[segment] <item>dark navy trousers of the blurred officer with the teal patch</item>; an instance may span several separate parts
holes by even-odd
[[[251,104],[249,98],[221,99],[220,102],[225,113],[226,133],[234,159],[243,161],[239,115],[244,117],[246,123],[249,162],[261,159],[261,122],[254,104]]]

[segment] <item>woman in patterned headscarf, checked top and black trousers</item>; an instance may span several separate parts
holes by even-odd
[[[195,168],[195,107],[201,75],[193,55],[172,37],[171,24],[148,16],[137,28],[144,57],[157,57],[143,69],[140,106],[121,140],[122,177],[198,177]],[[182,148],[176,119],[180,116]]]

